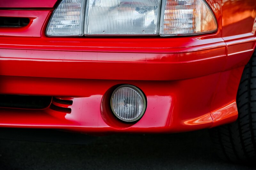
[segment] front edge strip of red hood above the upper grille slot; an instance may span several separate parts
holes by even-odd
[[[58,0],[0,0],[0,8],[52,8]]]

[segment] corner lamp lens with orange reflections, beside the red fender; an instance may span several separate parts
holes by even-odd
[[[163,0],[160,36],[215,32],[217,21],[204,0]]]

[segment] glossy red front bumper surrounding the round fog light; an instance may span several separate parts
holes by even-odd
[[[0,93],[72,97],[73,104],[70,114],[2,108],[0,126],[86,133],[192,131],[234,121],[236,91],[255,43],[247,38],[251,49],[227,55],[224,42],[169,53],[114,53],[22,49],[1,39]],[[108,94],[118,84],[135,85],[147,97],[136,124],[119,122],[109,109]]]

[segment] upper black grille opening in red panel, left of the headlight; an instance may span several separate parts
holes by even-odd
[[[28,18],[0,17],[0,27],[23,27],[28,25]]]

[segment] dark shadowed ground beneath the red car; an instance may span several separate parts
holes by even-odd
[[[201,130],[160,135],[116,134],[98,137],[86,145],[1,139],[0,169],[254,168],[220,160],[214,154],[208,130]]]

